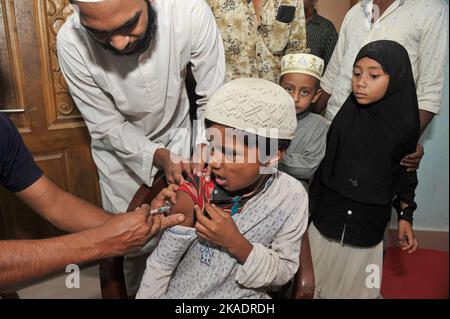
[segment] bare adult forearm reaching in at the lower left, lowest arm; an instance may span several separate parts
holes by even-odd
[[[0,291],[106,257],[92,234],[82,232],[43,240],[0,241]]]

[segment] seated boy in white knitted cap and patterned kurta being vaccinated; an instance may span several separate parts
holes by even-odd
[[[211,97],[205,117],[212,178],[180,186],[172,212],[186,221],[161,236],[137,298],[270,298],[298,270],[307,193],[274,168],[294,137],[292,98],[239,79]]]

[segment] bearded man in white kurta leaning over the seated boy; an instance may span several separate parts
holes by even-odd
[[[71,3],[75,12],[57,35],[58,60],[92,138],[103,208],[122,212],[159,170],[178,184],[191,173],[191,149],[206,143],[199,138],[204,106],[225,81],[222,38],[203,0]],[[201,97],[195,130],[184,83],[189,63]],[[125,257],[130,295],[145,260]]]

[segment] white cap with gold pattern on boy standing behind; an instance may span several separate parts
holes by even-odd
[[[281,59],[281,76],[287,73],[303,73],[321,81],[324,66],[323,59],[313,54],[286,54]]]

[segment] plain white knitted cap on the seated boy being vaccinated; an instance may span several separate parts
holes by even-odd
[[[291,140],[297,128],[295,103],[281,86],[263,79],[233,80],[206,105],[205,118],[256,135]]]

